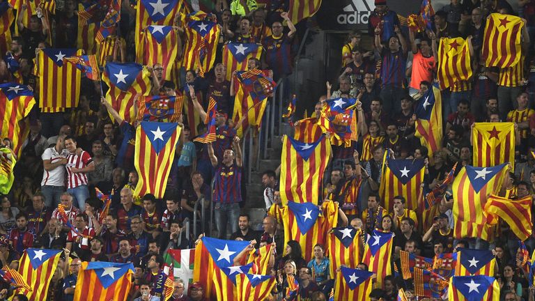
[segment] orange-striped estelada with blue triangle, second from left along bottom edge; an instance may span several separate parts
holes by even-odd
[[[126,301],[132,286],[132,275],[132,263],[84,261],[78,272],[75,301]]]

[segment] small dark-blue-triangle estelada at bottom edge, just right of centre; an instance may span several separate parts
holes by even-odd
[[[368,300],[372,272],[342,267],[334,280],[334,300]]]

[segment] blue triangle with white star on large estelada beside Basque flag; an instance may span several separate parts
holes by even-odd
[[[219,268],[228,268],[234,265],[235,256],[238,256],[249,245],[248,241],[220,240],[206,236],[201,240]]]

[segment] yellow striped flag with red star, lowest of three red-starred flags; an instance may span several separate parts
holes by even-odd
[[[493,167],[505,162],[515,167],[514,123],[475,123],[472,131],[476,167]]]

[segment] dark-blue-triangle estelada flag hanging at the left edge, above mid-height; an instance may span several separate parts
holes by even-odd
[[[26,140],[27,132],[24,132],[21,123],[36,105],[33,92],[26,86],[7,83],[0,84],[0,116],[3,116],[1,126],[2,137],[13,141],[13,152],[19,156],[22,151],[22,142]]]

